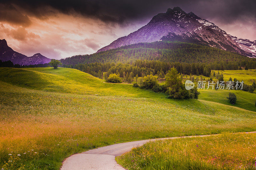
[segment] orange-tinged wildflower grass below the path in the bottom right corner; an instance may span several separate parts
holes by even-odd
[[[255,170],[256,133],[148,142],[116,160],[129,170]]]

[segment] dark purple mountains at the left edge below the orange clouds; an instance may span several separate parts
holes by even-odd
[[[26,55],[20,54],[14,51],[7,45],[5,39],[0,40],[0,60],[2,61],[12,61],[13,64],[20,64],[20,65],[34,65],[34,64],[44,64],[49,63],[51,59],[37,53],[31,57]]]

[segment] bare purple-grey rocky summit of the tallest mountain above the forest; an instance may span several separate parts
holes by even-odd
[[[118,38],[97,52],[139,42],[162,40],[208,45],[242,55],[251,55],[241,49],[237,42],[218,26],[196,16],[193,12],[186,13],[180,7],[169,8],[166,13],[157,14],[147,25],[127,36]]]

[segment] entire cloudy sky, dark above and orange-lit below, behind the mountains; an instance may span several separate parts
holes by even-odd
[[[256,40],[255,0],[1,0],[0,39],[27,56],[92,54],[176,6]]]

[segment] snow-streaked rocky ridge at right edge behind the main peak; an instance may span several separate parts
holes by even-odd
[[[248,55],[249,57],[256,57],[256,40],[250,41],[248,39],[237,38],[235,36],[231,36],[232,40],[236,41],[241,49],[251,53],[252,55]]]

